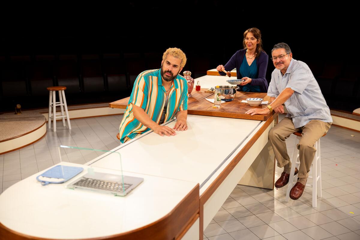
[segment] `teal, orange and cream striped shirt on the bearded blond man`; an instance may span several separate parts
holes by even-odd
[[[161,69],[143,71],[135,80],[129,103],[120,124],[120,142],[124,143],[150,129],[135,119],[132,105],[144,109],[145,113],[159,124],[165,106],[166,90],[162,85]],[[172,81],[164,122],[174,118],[178,111],[188,109],[188,83],[180,75]]]

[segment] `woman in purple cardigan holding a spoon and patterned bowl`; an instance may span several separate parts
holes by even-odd
[[[216,70],[231,71],[236,68],[237,79],[244,79],[239,84],[243,92],[267,92],[269,88],[265,79],[269,57],[262,49],[261,33],[257,28],[249,28],[244,32],[244,49],[235,52],[225,66],[219,65]]]

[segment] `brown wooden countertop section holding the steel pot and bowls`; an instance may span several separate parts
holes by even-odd
[[[213,98],[213,93],[204,93],[205,90],[206,89],[202,88],[201,92],[193,91],[191,93],[193,96],[188,99],[188,114],[266,121],[274,113],[272,112],[267,115],[253,116],[245,114],[245,112],[250,109],[265,108],[266,105],[263,104],[252,107],[248,103],[243,103],[241,101],[251,97],[264,98],[264,101],[269,101],[270,97],[267,96],[266,93],[250,93],[237,91],[236,97],[233,101],[221,103],[221,107],[219,109],[214,109],[212,107],[213,103],[205,99]],[[118,101],[111,102],[109,103],[109,107],[126,109],[126,106],[129,103],[129,99],[130,97],[127,97]]]

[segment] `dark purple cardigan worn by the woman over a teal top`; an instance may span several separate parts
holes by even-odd
[[[236,77],[237,79],[242,79],[243,77],[248,76],[242,76],[240,74],[240,66],[243,62],[244,55],[246,53],[246,49],[239,50],[235,52],[235,54],[230,58],[227,64],[225,64],[225,71],[231,71],[234,68],[236,68]],[[257,76],[258,78],[252,78],[251,79],[251,86],[260,86],[261,92],[267,92],[267,88],[269,88],[269,85],[267,84],[265,75],[266,75],[266,69],[267,69],[267,61],[269,61],[269,56],[261,51],[260,56],[256,58],[256,65],[257,65]],[[219,74],[222,76],[225,76],[226,73],[219,71]],[[241,86],[239,86],[240,89],[242,89]]]

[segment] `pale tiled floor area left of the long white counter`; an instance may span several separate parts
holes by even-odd
[[[57,122],[57,131],[48,129],[38,142],[0,155],[0,193],[18,181],[58,163],[58,146],[110,150],[119,146],[116,138],[122,115],[71,120],[71,130]],[[91,159],[62,157],[63,161],[85,163]],[[70,159],[69,159],[70,158]]]

